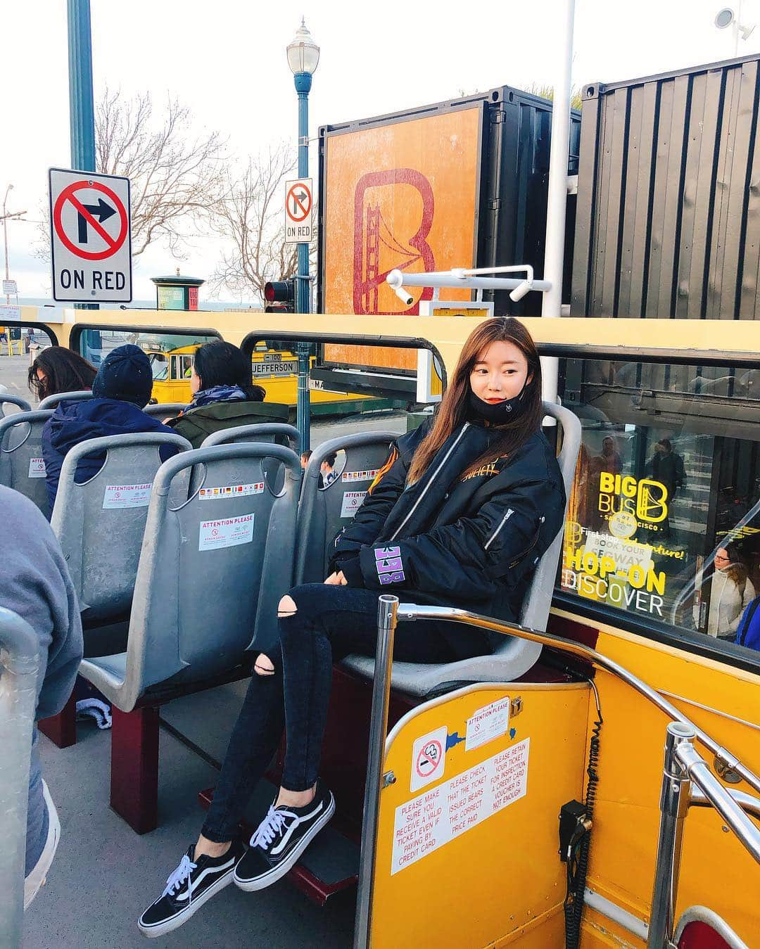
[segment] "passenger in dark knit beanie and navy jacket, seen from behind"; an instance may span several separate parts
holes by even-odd
[[[51,512],[64,458],[74,445],[106,435],[171,432],[158,419],[142,411],[151,397],[152,388],[153,374],[148,357],[139,346],[124,345],[112,349],[102,361],[92,383],[95,398],[82,402],[63,401],[58,405],[52,418],[47,419],[42,434]],[[175,449],[169,446],[160,451],[163,460],[174,454]],[[84,457],[77,465],[77,484],[98,474],[104,460],[104,455]]]

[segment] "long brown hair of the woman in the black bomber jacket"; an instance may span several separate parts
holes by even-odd
[[[525,326],[514,317],[495,317],[475,326],[462,346],[454,376],[441,400],[436,420],[417,449],[407,478],[414,484],[427,471],[428,465],[440,451],[446,439],[468,418],[470,374],[473,366],[493,343],[512,343],[528,361],[528,382],[522,394],[522,409],[514,413],[514,420],[498,426],[500,437],[488,451],[473,459],[464,475],[472,474],[493,458],[513,455],[541,426],[541,363],[535,344]]]

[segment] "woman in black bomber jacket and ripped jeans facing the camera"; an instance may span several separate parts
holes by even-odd
[[[332,542],[324,583],[282,597],[201,834],[140,917],[143,934],[176,929],[232,880],[244,890],[273,884],[329,821],[335,801],[319,770],[332,664],[375,655],[381,592],[518,617],[565,512],[541,419],[541,367],[528,330],[504,318],[477,326],[436,418],[399,437]],[[496,642],[497,634],[456,623],[401,622],[394,656],[451,662],[488,655]],[[246,851],[238,825],[284,729],[282,786]]]

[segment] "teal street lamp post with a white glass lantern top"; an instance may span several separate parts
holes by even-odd
[[[311,77],[320,61],[320,47],[311,38],[306,23],[296,30],[292,41],[287,45],[287,65],[293,73],[298,93],[298,177],[308,177],[308,93],[311,89]],[[308,273],[308,242],[298,244],[298,279],[296,280],[295,308],[298,313],[310,310]],[[310,419],[308,399],[308,359],[311,346],[307,343],[296,344],[298,357],[298,399],[296,403],[298,432],[301,436],[301,451],[309,447]]]

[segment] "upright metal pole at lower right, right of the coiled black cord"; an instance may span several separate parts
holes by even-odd
[[[659,793],[658,855],[646,942],[648,949],[667,949],[673,943],[683,822],[689,809],[691,783],[688,772],[677,757],[677,749],[683,743],[689,743],[691,747],[694,736],[694,729],[679,721],[670,722],[665,735],[665,761]]]

